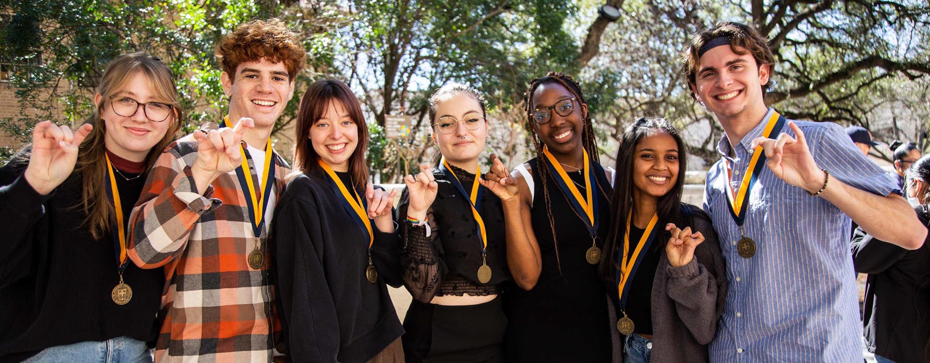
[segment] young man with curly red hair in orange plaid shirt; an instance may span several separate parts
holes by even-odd
[[[229,113],[168,146],[130,217],[129,257],[164,267],[155,360],[259,362],[274,354],[268,227],[289,165],[272,149],[305,51],[278,19],[225,36]]]

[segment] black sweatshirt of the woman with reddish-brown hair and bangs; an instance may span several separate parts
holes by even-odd
[[[365,363],[404,334],[385,285],[404,283],[402,246],[372,221],[379,279],[368,282],[368,239],[330,183],[322,171],[295,177],[274,212],[273,279],[284,340],[297,362]]]

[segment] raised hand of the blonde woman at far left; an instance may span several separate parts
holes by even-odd
[[[37,123],[33,129],[33,152],[23,174],[26,182],[40,194],[51,193],[73,172],[77,149],[93,128],[85,123],[72,133],[67,125]]]

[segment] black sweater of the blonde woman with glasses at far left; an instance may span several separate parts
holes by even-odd
[[[10,162],[0,168],[0,362],[120,336],[153,341],[162,269],[143,270],[130,261],[123,278],[132,300],[113,303],[110,293],[119,283],[113,236],[94,239],[84,227],[86,213],[74,207],[81,201],[81,176],[74,173],[43,196],[22,176],[25,167]],[[144,177],[116,176],[124,215],[144,183]]]

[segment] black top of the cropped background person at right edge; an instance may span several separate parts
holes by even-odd
[[[914,208],[924,226],[928,209]],[[858,228],[852,249],[856,271],[869,274],[862,318],[869,351],[898,363],[930,361],[930,238],[909,251]]]

